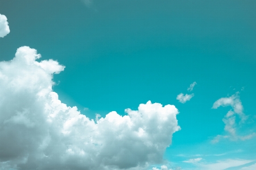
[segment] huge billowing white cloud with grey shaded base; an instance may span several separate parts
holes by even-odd
[[[52,91],[57,61],[19,48],[0,62],[0,169],[143,169],[160,163],[179,130],[174,105],[140,104],[89,120]]]

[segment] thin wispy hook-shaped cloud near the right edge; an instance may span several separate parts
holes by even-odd
[[[217,135],[212,140],[213,143],[219,142],[220,139],[222,138],[229,138],[232,139],[233,141],[237,141],[238,139],[245,141],[256,136],[256,133],[251,133],[245,136],[237,135],[236,115],[238,115],[241,118],[240,124],[245,123],[245,120],[247,119],[247,116],[243,113],[243,105],[238,94],[239,93],[237,92],[236,94],[230,97],[222,97],[213,103],[213,109],[217,109],[220,106],[232,107],[232,110],[226,113],[225,117],[222,119],[222,121],[225,124],[224,130],[229,135]]]

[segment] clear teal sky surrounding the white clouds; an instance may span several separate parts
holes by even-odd
[[[237,134],[256,132],[255,9],[256,1],[0,0],[11,30],[0,40],[0,59],[26,45],[42,54],[39,61],[57,60],[65,70],[53,91],[89,118],[125,115],[148,100],[175,105],[181,130],[165,162],[152,167],[250,160],[228,168],[240,169],[256,163],[256,137],[211,142],[228,134],[222,118],[232,109],[212,107],[239,92],[247,120],[237,117]],[[194,96],[180,103],[180,93]]]

